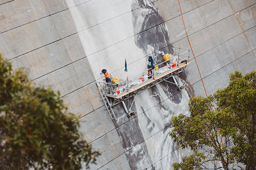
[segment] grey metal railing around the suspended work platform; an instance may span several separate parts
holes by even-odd
[[[190,57],[190,55],[189,55],[190,50],[189,49],[183,49],[183,48],[180,48],[180,47],[174,47],[174,48],[179,49],[178,55],[176,55],[174,57],[171,57],[167,61],[164,61],[164,62],[161,62],[160,64],[155,65],[155,68],[152,69],[152,75],[147,75],[146,74],[147,76],[145,77],[145,74],[144,74],[145,72],[147,73],[148,70],[151,70],[151,68],[150,68],[150,69],[147,69],[143,72],[140,72],[140,73],[138,73],[138,74],[136,74],[136,75],[134,75],[130,78],[128,78],[128,76],[127,76],[126,79],[124,79],[123,81],[120,81],[119,83],[116,83],[116,84],[106,83],[106,82],[98,82],[98,81],[97,82],[99,83],[99,85],[103,86],[103,89],[105,90],[105,93],[106,93],[106,91],[108,91],[108,92],[111,92],[111,94],[114,95],[114,96],[117,96],[119,93],[123,93],[125,91],[132,90],[137,85],[143,83],[144,81],[147,81],[148,79],[151,79],[151,77],[154,79],[155,75],[164,73],[165,71],[169,70],[170,69],[169,67],[172,68],[173,64],[176,64],[176,66],[178,67],[180,62],[185,61],[185,60],[187,60],[187,62],[189,61],[189,57]],[[182,52],[181,50],[185,50],[185,51]],[[184,57],[184,58],[181,58],[181,56]],[[169,64],[169,67],[167,67],[168,69],[166,69],[166,67],[165,68],[162,67],[163,69],[161,69],[160,66],[162,64],[169,63],[171,60],[172,60],[172,62],[171,62],[171,64]],[[156,70],[156,67],[158,67],[157,70]],[[143,78],[141,78],[142,76],[143,76]],[[130,81],[130,83],[129,83],[129,81]],[[107,88],[108,84],[112,85],[112,88],[113,88],[112,90]]]

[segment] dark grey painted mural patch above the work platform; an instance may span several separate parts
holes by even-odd
[[[167,26],[159,15],[153,0],[133,0],[132,23],[135,43],[145,54],[156,51],[158,45],[164,53],[173,55],[173,46],[169,43]],[[163,62],[160,58],[157,63]]]

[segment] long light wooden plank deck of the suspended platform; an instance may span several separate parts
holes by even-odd
[[[179,66],[176,66],[176,67],[171,68],[171,69],[169,69],[169,70],[167,70],[167,71],[165,71],[165,72],[163,72],[161,74],[158,74],[157,72],[161,72],[165,68],[169,67],[169,66],[164,66],[163,68],[159,68],[157,71],[155,71],[156,73],[155,73],[154,79],[151,78],[149,80],[146,80],[143,83],[140,83],[139,85],[136,85],[136,86],[132,87],[131,89],[129,89],[129,91],[126,90],[126,91],[120,92],[120,94],[117,94],[117,96],[111,95],[111,94],[106,94],[106,96],[111,97],[111,98],[119,99],[119,98],[124,97],[127,94],[129,94],[129,93],[131,93],[131,92],[133,92],[133,91],[135,91],[135,90],[137,90],[137,89],[139,89],[141,87],[144,87],[145,85],[148,85],[148,84],[150,84],[150,83],[152,83],[152,82],[154,82],[154,81],[156,81],[158,79],[161,79],[162,77],[164,77],[164,76],[166,76],[166,75],[168,75],[168,74],[170,74],[172,72],[175,72],[176,70],[179,70],[180,68],[185,67],[185,66],[187,66],[189,64],[190,64],[189,62],[187,62],[187,64],[186,63],[180,63]]]

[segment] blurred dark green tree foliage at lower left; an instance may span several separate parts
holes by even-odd
[[[0,159],[2,169],[78,170],[99,155],[78,132],[79,122],[51,89],[28,83],[0,56]],[[4,163],[4,164],[2,164]]]

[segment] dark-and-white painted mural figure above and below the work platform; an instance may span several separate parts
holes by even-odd
[[[173,55],[167,27],[153,0],[133,0],[131,9],[135,44],[143,50],[144,55],[156,51],[158,45],[161,51]],[[159,57],[157,63],[163,61]],[[178,83],[182,85],[185,83],[184,74],[180,78]],[[168,81],[172,81],[171,78]],[[136,111],[138,117],[118,128],[132,170],[148,167],[152,170],[169,170],[170,165],[180,159],[180,150],[168,132],[171,130],[172,115],[188,113],[188,99],[186,90],[178,93],[175,85],[167,82],[137,95],[132,111]],[[121,106],[115,108],[116,111],[121,109]]]

